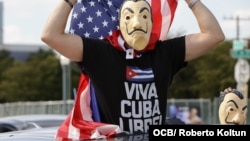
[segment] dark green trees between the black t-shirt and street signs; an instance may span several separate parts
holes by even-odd
[[[225,41],[206,55],[190,62],[174,78],[170,98],[214,98],[227,87],[236,87],[230,56],[232,42]]]

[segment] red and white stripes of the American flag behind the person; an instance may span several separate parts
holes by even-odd
[[[174,19],[178,0],[148,0],[152,6],[153,32],[165,40]],[[109,138],[122,132],[118,125],[94,122],[90,106],[90,79],[81,74],[75,105],[56,134],[57,141]]]

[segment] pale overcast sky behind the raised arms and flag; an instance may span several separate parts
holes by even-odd
[[[61,0],[0,0],[3,2],[4,44],[45,45],[40,35],[48,15]],[[250,38],[250,0],[202,0],[219,21],[226,39]],[[179,0],[169,33],[199,32],[196,20],[184,0]]]

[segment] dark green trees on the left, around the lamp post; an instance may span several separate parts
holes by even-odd
[[[12,64],[1,73],[0,103],[62,99],[62,69],[52,51],[39,50],[31,54],[27,62]],[[76,72],[74,75],[79,78]],[[78,79],[72,81],[77,84]]]

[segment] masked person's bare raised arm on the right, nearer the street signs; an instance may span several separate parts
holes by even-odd
[[[186,61],[208,52],[225,39],[224,33],[211,11],[200,0],[185,0],[198,22],[200,33],[186,36]]]

